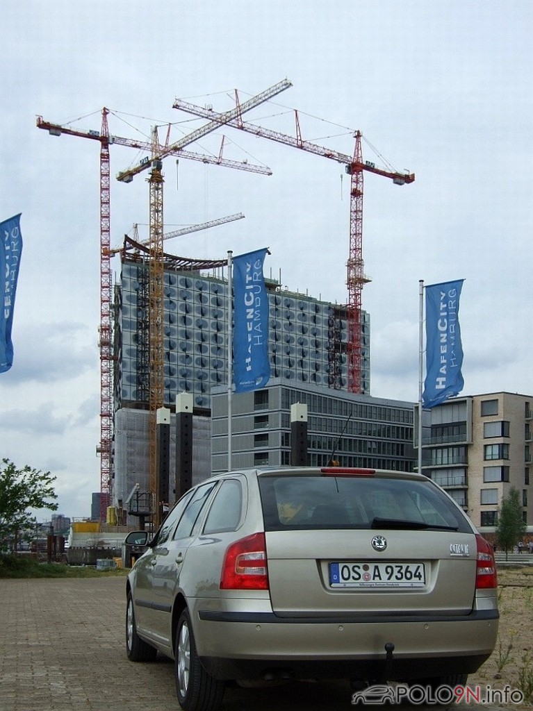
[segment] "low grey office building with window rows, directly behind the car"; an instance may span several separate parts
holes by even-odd
[[[298,387],[273,379],[263,390],[242,393],[232,411],[233,466],[291,464],[291,407],[307,405],[310,466],[413,471],[413,403],[347,392]],[[268,415],[265,415],[268,409]],[[213,471],[228,466],[226,394],[213,392]],[[268,426],[268,432],[258,429]],[[252,434],[250,434],[252,433]]]

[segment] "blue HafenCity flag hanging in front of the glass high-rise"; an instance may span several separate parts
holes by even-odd
[[[264,387],[268,362],[268,294],[263,261],[268,250],[233,259],[233,380],[235,392]]]

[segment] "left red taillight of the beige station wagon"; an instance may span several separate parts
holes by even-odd
[[[221,590],[268,590],[264,533],[253,533],[228,546],[220,587]]]

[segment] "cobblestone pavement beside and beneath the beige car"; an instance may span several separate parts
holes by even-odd
[[[124,578],[1,579],[1,711],[179,710],[171,661],[134,664],[127,659],[124,614]],[[231,688],[223,711],[362,708],[352,706],[350,698],[348,685],[342,683]],[[399,707],[406,708],[415,706]],[[502,706],[471,703],[460,708],[501,711]]]

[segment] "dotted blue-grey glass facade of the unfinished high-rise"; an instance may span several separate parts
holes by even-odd
[[[115,289],[117,407],[149,399],[148,274],[144,262],[123,262]],[[268,350],[273,378],[347,390],[347,312],[303,294],[269,289]],[[164,272],[164,403],[191,392],[209,409],[212,387],[227,383],[228,284],[199,272]],[[370,322],[362,314],[362,384],[370,388]]]

